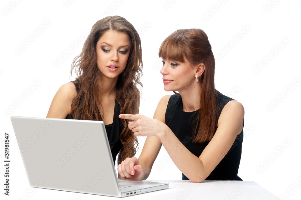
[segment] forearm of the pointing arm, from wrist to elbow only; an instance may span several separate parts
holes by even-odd
[[[203,162],[192,154],[167,126],[158,138],[178,169],[192,182],[200,183],[209,175]]]

